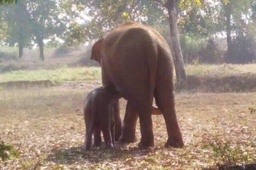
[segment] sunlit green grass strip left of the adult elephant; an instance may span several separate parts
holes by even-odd
[[[19,70],[0,74],[0,82],[51,80],[53,82],[100,80],[100,67],[60,68],[56,70]]]

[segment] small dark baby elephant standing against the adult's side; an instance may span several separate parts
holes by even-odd
[[[84,122],[86,125],[86,150],[90,150],[92,134],[95,130],[103,132],[106,148],[113,148],[115,142],[115,122],[113,103],[120,98],[110,86],[102,86],[91,91],[85,100]],[[95,134],[94,134],[95,143]]]

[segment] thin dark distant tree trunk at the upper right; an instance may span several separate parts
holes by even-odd
[[[231,2],[226,4],[226,31],[227,31],[227,44],[228,44],[228,49],[227,49],[227,58],[231,58]]]

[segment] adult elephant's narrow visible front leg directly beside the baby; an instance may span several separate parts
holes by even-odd
[[[115,140],[118,141],[122,134],[122,120],[120,118],[119,100],[114,103]]]

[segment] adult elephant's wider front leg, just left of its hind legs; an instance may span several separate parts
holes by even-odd
[[[122,136],[120,138],[120,142],[132,143],[136,141],[135,130],[137,119],[138,112],[135,110],[133,104],[128,101],[124,116],[124,126],[122,129]]]

